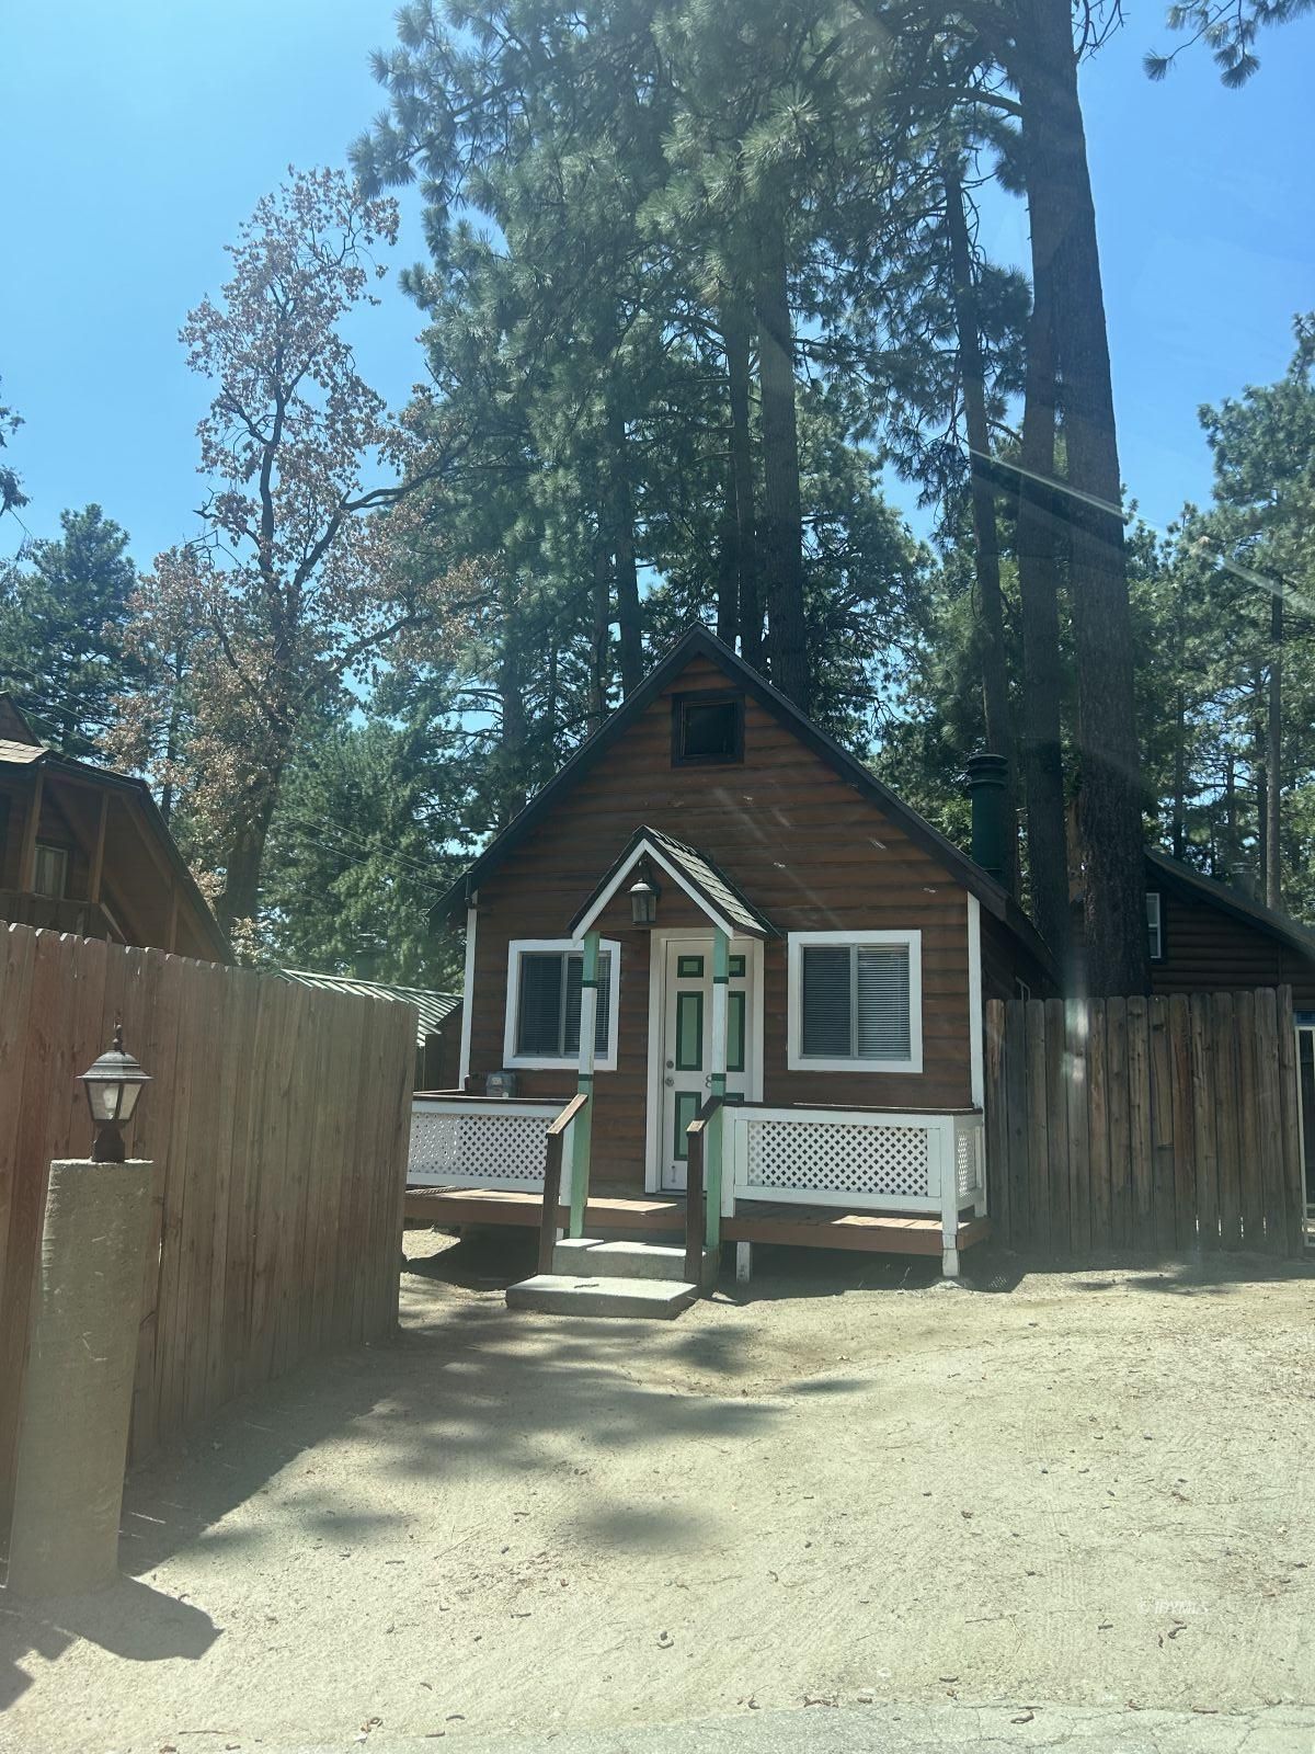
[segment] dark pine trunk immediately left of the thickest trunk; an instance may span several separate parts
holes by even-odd
[[[1024,147],[1027,128],[1024,123]],[[1033,310],[1019,451],[1019,603],[1022,623],[1022,765],[1027,868],[1036,930],[1071,984],[1068,824],[1061,730],[1059,542],[1056,528],[1056,337],[1045,212],[1027,200],[1033,230]]]

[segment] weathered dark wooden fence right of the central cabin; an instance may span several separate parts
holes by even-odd
[[[985,1047],[1006,1247],[1301,1252],[1290,988],[994,1000]]]

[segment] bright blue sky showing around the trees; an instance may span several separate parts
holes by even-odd
[[[1315,307],[1303,144],[1315,18],[1261,42],[1261,74],[1241,93],[1198,53],[1152,86],[1140,56],[1171,42],[1161,18],[1133,4],[1084,74],[1122,468],[1154,524],[1208,495],[1198,405],[1276,377],[1292,314]],[[132,533],[140,565],[193,531],[205,386],[186,370],[179,324],[219,286],[224,242],[284,168],[342,161],[380,107],[368,53],[391,39],[387,0],[9,11],[0,379],[26,421],[12,461],[35,535],[89,500]],[[1026,261],[1017,203],[992,207],[984,242]],[[421,253],[412,209],[394,254]],[[417,326],[391,286],[356,332],[366,377],[393,403],[419,375]],[[0,528],[0,553],[19,537]]]

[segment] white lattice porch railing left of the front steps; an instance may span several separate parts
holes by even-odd
[[[500,1187],[544,1191],[547,1130],[561,1102],[477,1102],[466,1096],[416,1096],[410,1105],[414,1187]],[[563,1200],[570,1198],[570,1131],[563,1151]]]

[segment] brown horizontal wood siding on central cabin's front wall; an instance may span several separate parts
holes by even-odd
[[[642,824],[698,847],[784,931],[922,933],[920,1075],[787,1072],[785,942],[764,949],[764,1096],[770,1102],[963,1107],[968,1058],[968,898],[903,830],[845,784],[756,702],[745,702],[745,759],[672,766],[672,693],[726,688],[696,658],[479,891],[470,1035],[472,1087],[503,1063],[507,947],[559,938]],[[707,930],[672,882],[659,926]],[[647,1098],[649,944],[624,898],[600,921],[621,942],[617,1070],[596,1073],[594,1175],[642,1184]],[[575,1075],[521,1072],[524,1094],[573,1091]]]

